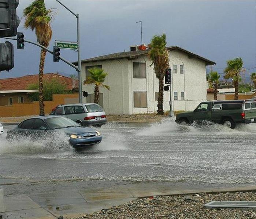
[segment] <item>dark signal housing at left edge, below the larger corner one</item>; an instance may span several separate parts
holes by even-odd
[[[9,72],[14,67],[13,45],[6,41],[0,43],[0,71]]]

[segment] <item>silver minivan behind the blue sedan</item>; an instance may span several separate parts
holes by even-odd
[[[96,103],[76,103],[57,107],[50,115],[66,116],[81,126],[101,127],[107,123],[106,114],[100,105]]]

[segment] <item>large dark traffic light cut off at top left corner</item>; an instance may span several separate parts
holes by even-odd
[[[0,37],[14,37],[17,35],[19,17],[16,8],[19,0],[0,0]]]

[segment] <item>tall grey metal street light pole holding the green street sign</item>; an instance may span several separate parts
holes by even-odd
[[[71,12],[76,18],[77,18],[77,63],[78,63],[78,89],[79,89],[79,103],[82,103],[82,75],[81,75],[81,58],[80,58],[80,28],[79,28],[79,14],[75,14],[73,11],[71,11],[66,5],[61,3],[59,0],[56,0],[58,3],[60,3],[64,8],[66,8],[68,11]]]

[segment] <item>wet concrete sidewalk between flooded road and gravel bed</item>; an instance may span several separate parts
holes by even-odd
[[[154,188],[149,184],[147,187],[134,185],[130,188],[122,186],[110,189],[54,191],[51,193],[37,193],[30,196],[11,195],[5,197],[7,212],[3,218],[52,219],[60,215],[63,215],[64,218],[74,218],[84,215],[84,213],[90,214],[100,211],[103,208],[122,205],[138,197],[236,191],[256,191],[256,185],[214,189],[173,190],[167,187]]]

